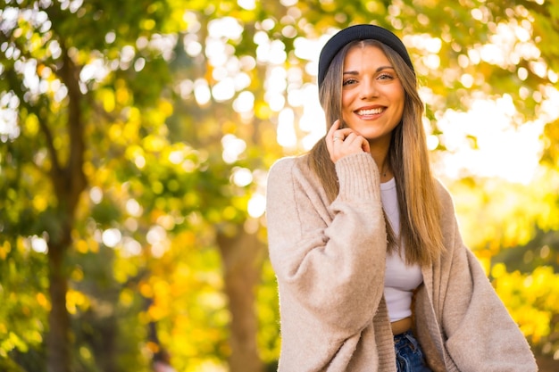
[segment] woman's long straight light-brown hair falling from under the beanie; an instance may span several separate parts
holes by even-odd
[[[388,249],[396,250],[400,242],[405,247],[408,264],[429,265],[445,251],[439,225],[440,204],[435,180],[430,171],[429,153],[422,126],[423,103],[413,70],[392,48],[376,40],[355,41],[346,45],[334,57],[319,90],[319,99],[326,117],[327,129],[342,119],[342,74],[344,60],[352,47],[379,47],[394,67],[405,92],[402,120],[392,131],[388,162],[396,179],[396,194],[400,212],[400,236],[387,222]],[[344,124],[342,123],[342,126]],[[321,180],[330,202],[339,192],[334,162],[326,147],[325,136],[309,153],[309,165]]]

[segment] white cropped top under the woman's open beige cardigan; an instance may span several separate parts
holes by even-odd
[[[396,180],[380,184],[382,206],[387,214],[390,226],[396,236],[400,235],[400,213],[396,195]],[[400,253],[404,254],[403,247]],[[408,266],[402,254],[387,254],[386,273],[384,278],[384,297],[387,302],[390,321],[394,322],[412,315],[413,290],[421,285],[423,276],[419,265]]]

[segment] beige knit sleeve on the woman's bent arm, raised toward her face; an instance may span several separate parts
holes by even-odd
[[[329,204],[301,161],[277,162],[268,179],[267,224],[282,324],[312,322],[343,339],[371,323],[379,306],[387,235],[371,156],[346,156],[336,169],[339,194]]]

